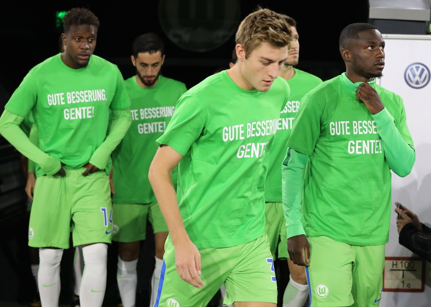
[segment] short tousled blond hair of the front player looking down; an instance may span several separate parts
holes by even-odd
[[[267,8],[258,8],[239,24],[235,43],[243,46],[245,58],[248,58],[263,42],[275,48],[289,46],[292,42],[292,32],[281,14]]]

